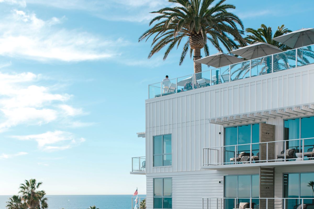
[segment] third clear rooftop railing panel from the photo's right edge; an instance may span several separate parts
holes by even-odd
[[[251,77],[272,72],[272,56],[251,60]]]

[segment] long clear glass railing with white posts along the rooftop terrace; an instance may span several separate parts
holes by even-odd
[[[196,88],[310,65],[314,63],[313,45],[174,78],[170,81],[154,83],[148,86],[148,98],[162,97]]]

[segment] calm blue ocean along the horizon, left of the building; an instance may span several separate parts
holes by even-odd
[[[99,209],[131,209],[132,196],[133,195],[46,195],[49,209],[87,209],[89,206],[93,205]],[[141,195],[141,197],[145,196],[146,195]],[[0,209],[6,209],[6,201],[8,201],[9,197],[10,196],[0,195]]]

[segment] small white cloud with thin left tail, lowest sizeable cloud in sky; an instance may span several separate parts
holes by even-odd
[[[19,140],[35,140],[38,148],[44,151],[65,150],[85,141],[84,138],[75,138],[72,133],[58,130],[41,134],[14,136],[14,138]]]

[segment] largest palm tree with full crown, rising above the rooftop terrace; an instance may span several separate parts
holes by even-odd
[[[168,0],[178,6],[166,7],[158,11],[158,16],[153,18],[149,26],[157,23],[145,31],[138,39],[146,41],[154,35],[148,58],[168,45],[163,59],[165,60],[169,52],[176,46],[178,49],[181,41],[185,43],[180,57],[182,64],[186,54],[190,51],[190,57],[194,51],[194,60],[201,58],[201,49],[204,54],[209,55],[208,41],[219,51],[222,51],[221,44],[228,50],[238,48],[236,41],[241,45],[246,45],[242,38],[243,24],[235,14],[228,12],[236,7],[232,4],[224,4],[225,0],[219,0],[213,4],[214,0]],[[237,28],[240,25],[242,30]],[[231,37],[229,37],[229,35]],[[194,73],[202,71],[202,66],[194,62]]]

